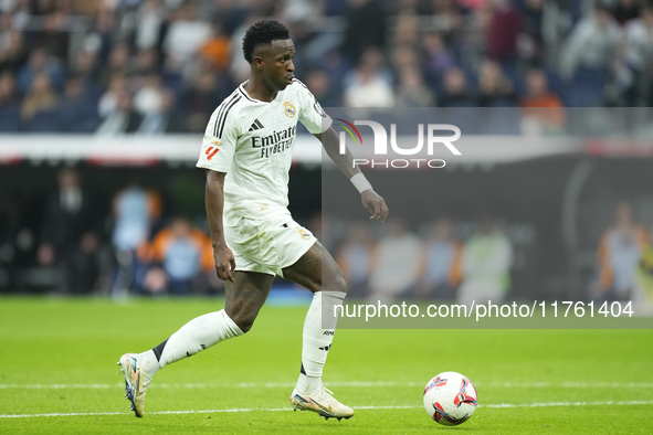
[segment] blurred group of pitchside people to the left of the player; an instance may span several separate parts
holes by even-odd
[[[18,200],[6,201],[0,291],[117,298],[221,291],[206,219],[165,214],[159,190],[137,172],[126,181],[114,192],[108,215],[73,168],[59,171],[33,225]]]

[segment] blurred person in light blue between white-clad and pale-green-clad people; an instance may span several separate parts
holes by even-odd
[[[447,217],[439,219],[424,246],[423,270],[415,296],[453,300],[462,282],[463,245]]]

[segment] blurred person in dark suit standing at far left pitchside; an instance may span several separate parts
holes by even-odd
[[[50,195],[43,215],[38,259],[41,266],[59,269],[59,282],[53,285],[60,291],[89,293],[99,276],[95,209],[74,169],[61,170],[57,184],[59,190]]]

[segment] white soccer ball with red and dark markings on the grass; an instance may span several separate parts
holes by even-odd
[[[472,381],[456,372],[443,372],[424,389],[424,409],[435,422],[456,426],[476,411],[476,389]]]

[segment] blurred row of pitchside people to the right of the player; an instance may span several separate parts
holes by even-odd
[[[501,303],[514,290],[519,268],[533,262],[524,250],[533,235],[512,227],[489,208],[473,222],[441,216],[413,224],[413,230],[397,217],[376,227],[340,223],[343,231],[336,222],[327,224],[327,234],[335,236],[336,261],[355,297]],[[589,291],[581,297],[644,303],[640,308],[653,309],[653,223],[647,224],[638,220],[632,202],[617,202],[610,225],[593,242],[596,263]],[[533,289],[520,290],[512,297],[533,296]]]

